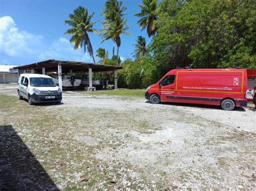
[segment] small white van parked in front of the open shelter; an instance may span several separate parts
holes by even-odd
[[[21,74],[18,80],[18,99],[26,98],[29,104],[62,101],[62,90],[50,76]]]

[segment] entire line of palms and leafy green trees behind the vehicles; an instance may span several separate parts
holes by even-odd
[[[149,44],[138,36],[134,59],[127,59],[119,71],[121,87],[143,88],[155,83],[170,69],[183,68],[256,68],[256,2],[253,0],[142,0],[138,5],[140,29],[151,38]],[[104,48],[97,50],[100,62],[120,63],[120,34],[127,34],[127,8],[122,1],[107,0],[103,9],[100,37],[113,41],[112,59]],[[74,48],[83,47],[93,58],[88,36],[93,30],[92,15],[79,7],[65,23],[66,34]],[[117,46],[117,54],[114,48]],[[93,58],[93,61],[95,59]],[[119,87],[120,87],[119,86]]]

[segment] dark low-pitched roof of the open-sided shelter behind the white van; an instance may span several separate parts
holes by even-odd
[[[98,63],[88,63],[88,62],[79,62],[79,61],[63,61],[63,60],[44,60],[40,62],[31,63],[29,65],[17,66],[14,69],[20,70],[41,70],[45,68],[46,72],[53,72],[57,70],[57,66],[60,64],[62,66],[62,73],[68,73],[70,70],[72,72],[79,71],[87,71],[89,68],[92,68],[93,72],[101,72],[101,71],[113,71],[117,69],[122,69],[122,66],[114,66],[114,65],[102,65]]]

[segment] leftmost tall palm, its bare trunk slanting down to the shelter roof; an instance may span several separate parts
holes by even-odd
[[[84,47],[84,52],[89,52],[90,56],[95,63],[95,58],[93,56],[93,49],[91,45],[91,41],[88,35],[88,32],[96,32],[96,30],[92,29],[93,24],[91,23],[91,18],[93,17],[94,12],[89,15],[88,10],[83,6],[79,6],[77,9],[73,11],[72,14],[69,15],[70,20],[65,20],[65,23],[71,26],[64,34],[72,34],[70,38],[70,43],[74,43],[74,48],[77,49],[79,46]]]

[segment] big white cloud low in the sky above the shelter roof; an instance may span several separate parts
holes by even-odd
[[[88,53],[73,49],[66,38],[47,44],[43,35],[19,31],[9,16],[0,17],[0,54],[6,58],[31,58],[33,61],[46,59],[76,60],[91,62]]]

